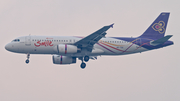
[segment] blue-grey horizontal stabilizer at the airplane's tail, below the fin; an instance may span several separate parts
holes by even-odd
[[[168,41],[171,37],[172,37],[172,35],[167,35],[167,36],[160,38],[158,40],[151,41],[150,44],[153,46],[157,46],[157,45],[163,44],[164,42]]]

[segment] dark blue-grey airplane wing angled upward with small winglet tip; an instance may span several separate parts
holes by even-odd
[[[87,37],[77,41],[74,43],[78,48],[87,49],[88,51],[92,51],[93,45],[97,43],[102,37],[104,37],[107,33],[106,31],[112,27],[113,25],[104,26],[103,28],[97,30],[96,32],[88,35]]]

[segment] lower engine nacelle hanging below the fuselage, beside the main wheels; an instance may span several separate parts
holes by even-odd
[[[76,63],[76,57],[53,55],[52,59],[53,59],[54,64],[72,64],[72,63]]]

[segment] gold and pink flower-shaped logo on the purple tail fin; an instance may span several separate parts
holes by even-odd
[[[160,34],[163,34],[165,32],[165,23],[164,21],[159,21],[158,23],[155,23],[152,28],[155,30],[155,31],[158,31]]]

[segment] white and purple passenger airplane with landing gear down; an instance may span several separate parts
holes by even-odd
[[[106,31],[114,24],[104,26],[86,36],[21,36],[5,46],[10,52],[27,55],[51,54],[54,64],[64,65],[82,61],[84,69],[89,59],[96,60],[102,55],[128,55],[173,45],[172,35],[164,36],[170,13],[162,12],[148,29],[138,37],[105,37]]]

